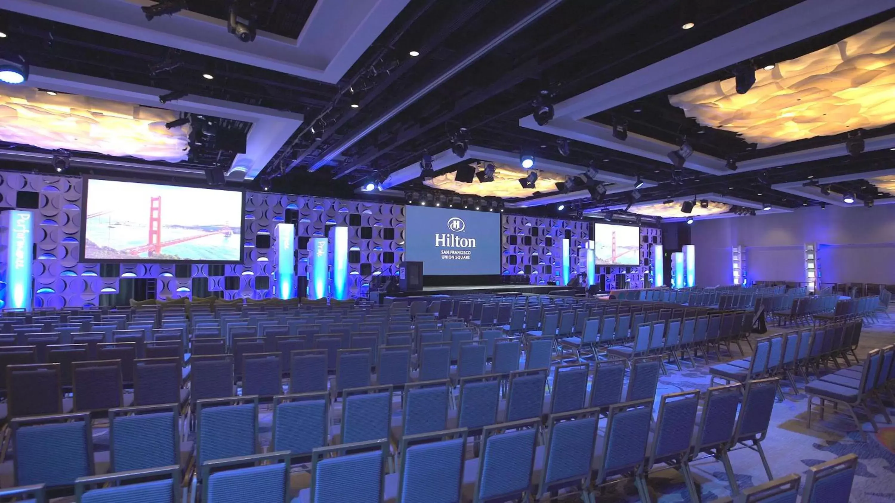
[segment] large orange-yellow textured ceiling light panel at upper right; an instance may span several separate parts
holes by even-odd
[[[895,20],[814,53],[755,71],[737,94],[735,79],[669,96],[703,126],[734,131],[758,147],[878,128],[895,122]]]

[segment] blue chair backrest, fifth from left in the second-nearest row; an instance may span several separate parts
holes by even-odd
[[[391,427],[391,386],[366,386],[343,391],[341,442],[388,439]]]

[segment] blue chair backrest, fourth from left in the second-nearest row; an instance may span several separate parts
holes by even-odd
[[[297,393],[274,397],[270,445],[293,457],[311,455],[327,445],[329,393]]]

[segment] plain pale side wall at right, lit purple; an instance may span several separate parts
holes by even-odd
[[[828,206],[693,223],[696,281],[733,281],[730,250],[746,250],[749,281],[805,281],[804,246],[817,243],[821,281],[895,283],[895,205]]]

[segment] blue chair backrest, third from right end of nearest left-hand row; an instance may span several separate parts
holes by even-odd
[[[699,390],[662,395],[647,470],[656,463],[680,461],[687,456],[698,409]]]

